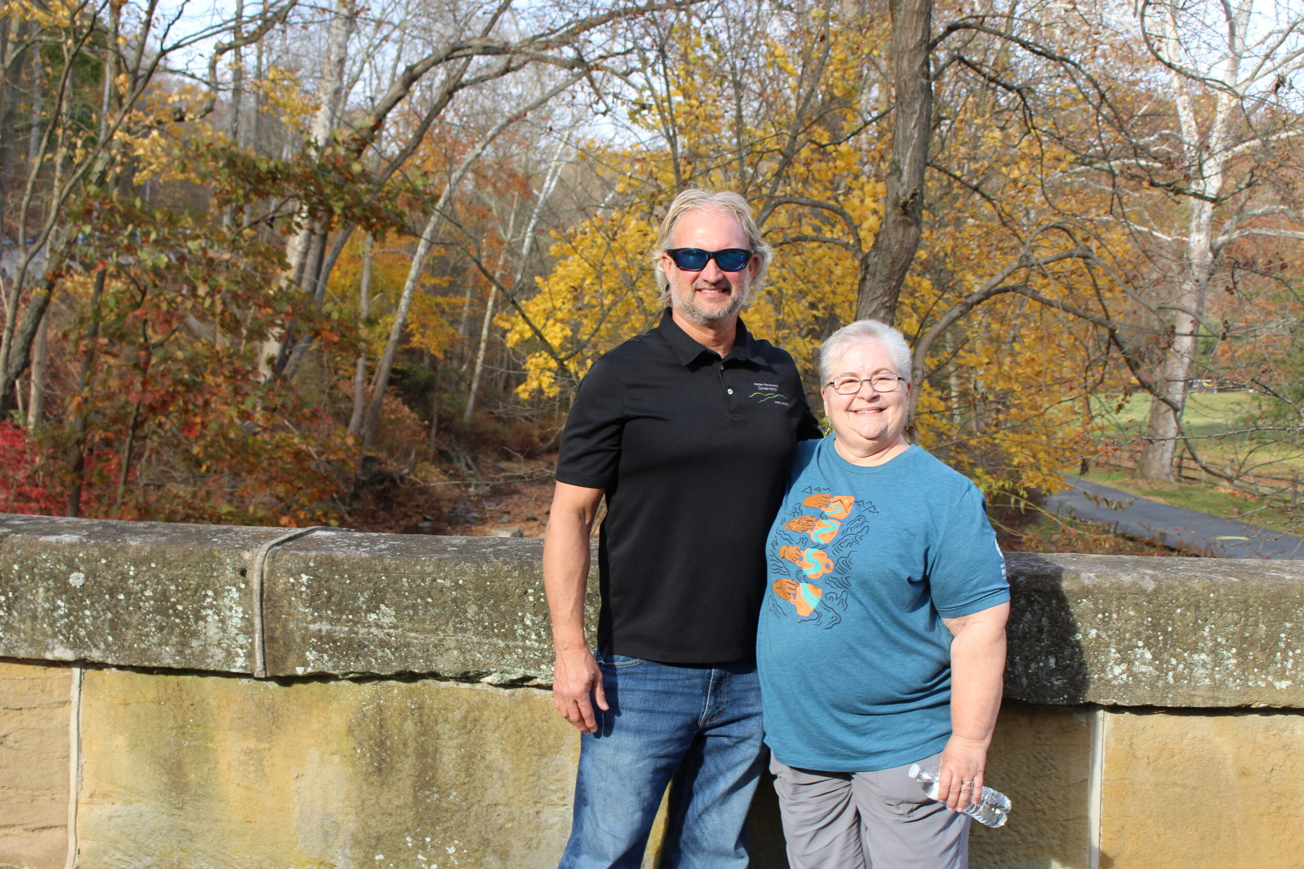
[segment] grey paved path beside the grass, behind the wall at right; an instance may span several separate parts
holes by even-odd
[[[1247,525],[1234,519],[1161,504],[1077,477],[1072,489],[1047,498],[1056,513],[1112,525],[1115,532],[1157,539],[1166,546],[1198,550],[1218,558],[1304,559],[1304,538]]]

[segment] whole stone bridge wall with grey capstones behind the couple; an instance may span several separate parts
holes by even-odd
[[[0,866],[556,865],[541,543],[291,534],[0,516]],[[973,865],[1304,865],[1304,563],[1009,573]]]

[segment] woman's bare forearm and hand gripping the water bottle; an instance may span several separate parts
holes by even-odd
[[[951,631],[951,739],[941,752],[938,799],[961,810],[982,795],[987,747],[996,728],[1005,674],[1005,620],[1009,603],[956,619]],[[971,787],[965,787],[971,782]]]

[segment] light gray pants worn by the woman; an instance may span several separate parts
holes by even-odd
[[[908,769],[820,773],[771,757],[792,869],[966,869],[969,816],[926,797]]]

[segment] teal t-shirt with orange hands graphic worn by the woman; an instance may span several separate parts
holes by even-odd
[[[951,736],[943,618],[1009,599],[982,492],[919,447],[854,465],[797,444],[765,543],[756,659],[765,743],[788,766],[858,773]]]

